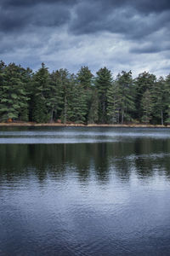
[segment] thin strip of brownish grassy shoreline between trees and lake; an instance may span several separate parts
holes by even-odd
[[[59,123],[32,123],[32,122],[16,122],[16,123],[0,123],[0,127],[134,127],[134,128],[170,128],[170,125],[144,125],[144,124],[129,124],[129,125],[82,125],[82,124],[59,124]]]

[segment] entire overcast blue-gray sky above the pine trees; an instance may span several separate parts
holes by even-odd
[[[169,0],[0,0],[0,59],[170,73]]]

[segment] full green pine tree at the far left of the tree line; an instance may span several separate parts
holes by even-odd
[[[25,70],[10,63],[3,70],[3,84],[0,91],[0,116],[7,121],[28,119],[28,100],[26,82],[23,79]],[[24,114],[23,114],[24,112]]]

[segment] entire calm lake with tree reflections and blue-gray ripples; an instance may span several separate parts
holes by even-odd
[[[0,255],[170,255],[170,130],[1,128]]]

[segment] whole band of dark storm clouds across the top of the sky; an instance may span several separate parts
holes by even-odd
[[[169,27],[170,21],[170,1],[166,0],[3,0],[0,6],[3,32],[67,24],[75,34],[107,31],[138,39]]]

